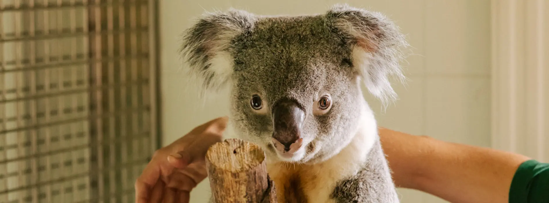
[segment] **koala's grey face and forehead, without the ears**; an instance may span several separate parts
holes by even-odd
[[[284,161],[338,151],[360,119],[349,50],[325,23],[323,16],[259,20],[231,53],[237,129]]]

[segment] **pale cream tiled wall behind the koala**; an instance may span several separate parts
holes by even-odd
[[[313,3],[315,2],[315,3]],[[400,100],[385,112],[369,95],[380,126],[426,134],[451,142],[490,146],[490,1],[160,1],[163,144],[194,126],[227,115],[227,102],[197,102],[184,87],[178,61],[178,37],[204,10],[235,7],[260,14],[323,13],[334,3],[350,3],[384,12],[396,20],[414,47],[407,59],[410,82],[396,86]],[[191,202],[208,199],[208,183]],[[399,190],[402,202],[444,202],[434,196]]]

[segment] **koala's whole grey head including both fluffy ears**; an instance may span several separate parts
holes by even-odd
[[[350,142],[368,91],[396,99],[404,35],[384,15],[335,5],[324,14],[206,13],[183,33],[188,71],[206,91],[231,89],[230,125],[272,160],[328,159]]]

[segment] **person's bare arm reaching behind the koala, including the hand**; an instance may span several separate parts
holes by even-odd
[[[182,195],[178,201],[188,202],[189,191],[206,177],[202,157],[211,144],[222,139],[226,122],[226,118],[212,120],[159,149],[137,179],[136,201],[160,198],[158,192],[166,196],[174,190]],[[397,187],[421,190],[453,203],[507,203],[514,172],[529,159],[390,129],[379,132]],[[185,157],[169,156],[175,153]]]

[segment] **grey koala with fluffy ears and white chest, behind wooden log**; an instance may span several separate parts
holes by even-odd
[[[399,202],[362,93],[386,104],[397,99],[390,77],[406,79],[393,21],[347,4],[295,16],[229,9],[182,39],[201,90],[229,89],[226,132],[265,150],[278,202]]]

